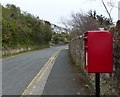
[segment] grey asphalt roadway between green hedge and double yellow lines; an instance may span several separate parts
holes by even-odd
[[[50,56],[67,46],[51,47],[2,61],[2,95],[21,95]]]

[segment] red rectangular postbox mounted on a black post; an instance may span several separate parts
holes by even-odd
[[[112,34],[88,31],[84,35],[84,64],[88,73],[112,72]]]

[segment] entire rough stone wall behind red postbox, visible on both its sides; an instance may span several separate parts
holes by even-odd
[[[116,26],[111,28],[113,34],[113,73],[101,74],[101,94],[102,95],[119,95],[120,96],[120,21]],[[84,71],[83,60],[83,39],[78,37],[69,43],[69,52],[76,65],[80,65]],[[84,71],[84,73],[86,73]],[[86,73],[93,87],[95,87],[95,75]]]

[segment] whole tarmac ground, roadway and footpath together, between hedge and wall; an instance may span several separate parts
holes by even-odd
[[[68,46],[51,47],[2,61],[2,95],[85,95]]]

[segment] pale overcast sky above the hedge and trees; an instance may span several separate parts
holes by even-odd
[[[109,1],[109,0],[105,0]],[[118,1],[114,0],[115,6]],[[7,3],[15,4],[22,11],[27,11],[40,19],[62,26],[61,18],[69,19],[72,12],[80,10],[88,12],[96,10],[97,14],[108,17],[106,11],[99,0],[0,0],[2,5]],[[118,8],[113,8],[112,18],[114,22],[118,20]]]

